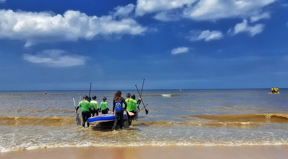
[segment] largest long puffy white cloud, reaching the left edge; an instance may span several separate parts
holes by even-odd
[[[139,35],[143,27],[134,19],[113,19],[108,16],[87,16],[67,10],[63,15],[51,12],[0,10],[0,38],[25,40],[25,46],[39,42],[87,40],[97,35]]]

